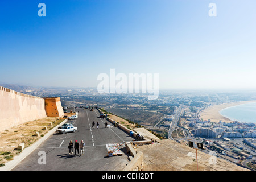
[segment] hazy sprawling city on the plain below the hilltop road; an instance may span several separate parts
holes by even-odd
[[[166,139],[202,142],[205,152],[216,151],[229,162],[255,162],[255,123],[212,122],[200,119],[199,113],[212,105],[254,101],[256,90],[159,90],[157,100],[148,100],[147,94],[100,94],[97,88],[1,86],[38,97],[60,97],[62,106],[72,109],[97,105]]]

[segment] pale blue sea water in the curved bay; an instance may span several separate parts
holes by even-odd
[[[227,107],[220,114],[232,121],[256,123],[256,102]]]

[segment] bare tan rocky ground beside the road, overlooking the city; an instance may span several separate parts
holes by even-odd
[[[144,171],[196,171],[196,151],[185,144],[173,140],[158,140],[150,145],[138,146],[143,153]],[[216,158],[211,164],[212,155],[197,151],[199,171],[248,171],[248,169]]]

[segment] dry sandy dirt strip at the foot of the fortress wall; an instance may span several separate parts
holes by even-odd
[[[67,117],[72,113],[65,113]],[[20,154],[17,149],[20,143],[24,143],[24,148],[35,143],[42,138],[49,130],[59,125],[66,118],[46,117],[34,121],[29,121],[10,127],[0,132],[0,167],[4,166],[8,160],[13,160],[13,157]],[[46,126],[46,129],[44,129]],[[38,132],[39,137],[34,136]]]

